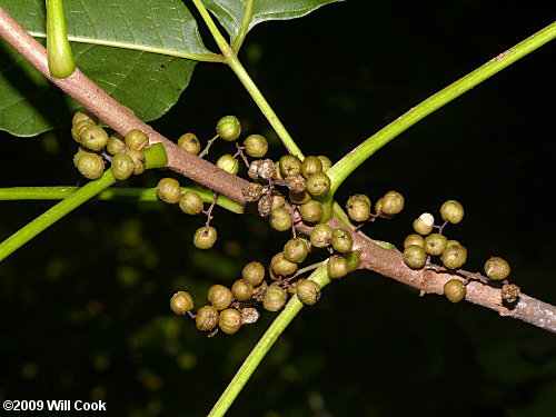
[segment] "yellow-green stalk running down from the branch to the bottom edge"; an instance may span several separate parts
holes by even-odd
[[[326,271],[326,262],[317,268],[309,277],[309,279],[325,287],[330,282],[330,277]],[[251,350],[247,359],[244,361],[239,370],[236,373],[228,387],[225,389],[218,401],[210,410],[208,417],[221,417],[226,414],[236,397],[239,395],[249,377],[252,375],[257,366],[260,364],[265,355],[270,350],[275,341],[281,332],[288,327],[294,317],[301,310],[304,305],[297,296],[292,296],[286,305],[286,308],[272,321],[268,330],[262,335],[259,342]]]

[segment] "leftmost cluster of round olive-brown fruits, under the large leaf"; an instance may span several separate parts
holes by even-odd
[[[105,160],[108,160],[117,180],[142,173],[146,169],[142,150],[149,146],[149,137],[138,129],[126,137],[109,136],[97,123],[98,119],[88,112],[78,111],[73,116],[71,136],[79,143],[73,165],[79,172],[88,179],[97,179],[105,172]]]

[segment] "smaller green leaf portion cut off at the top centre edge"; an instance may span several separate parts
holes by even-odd
[[[344,0],[255,0],[252,19],[248,31],[269,20],[301,18],[321,6]],[[203,4],[218,19],[220,24],[236,39],[244,21],[247,0],[203,0]]]

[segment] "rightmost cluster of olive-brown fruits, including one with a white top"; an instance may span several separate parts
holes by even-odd
[[[443,235],[447,224],[459,224],[464,218],[464,207],[456,200],[448,200],[440,207],[440,217],[444,224],[435,226],[435,218],[424,212],[415,219],[415,234],[404,240],[404,261],[411,269],[431,267],[430,257],[438,256],[444,267],[457,272],[467,260],[467,248],[457,240],[449,240]],[[438,229],[438,232],[433,232]],[[489,279],[504,280],[502,299],[508,304],[515,302],[519,296],[519,287],[508,284],[509,265],[499,257],[492,257],[485,262],[485,272]],[[451,302],[459,302],[466,296],[468,278],[450,279],[444,286],[444,294]]]

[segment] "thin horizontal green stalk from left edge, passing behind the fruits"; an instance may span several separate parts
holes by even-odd
[[[80,187],[11,187],[0,188],[0,201],[14,200],[62,200],[73,192],[80,190]],[[212,191],[197,187],[181,187],[181,192],[195,191],[203,202],[212,202]],[[108,188],[96,196],[98,200],[132,200],[135,202],[153,202],[159,201],[156,188]],[[234,201],[226,196],[218,196],[216,203],[231,212],[242,214],[244,209],[240,203]]]

